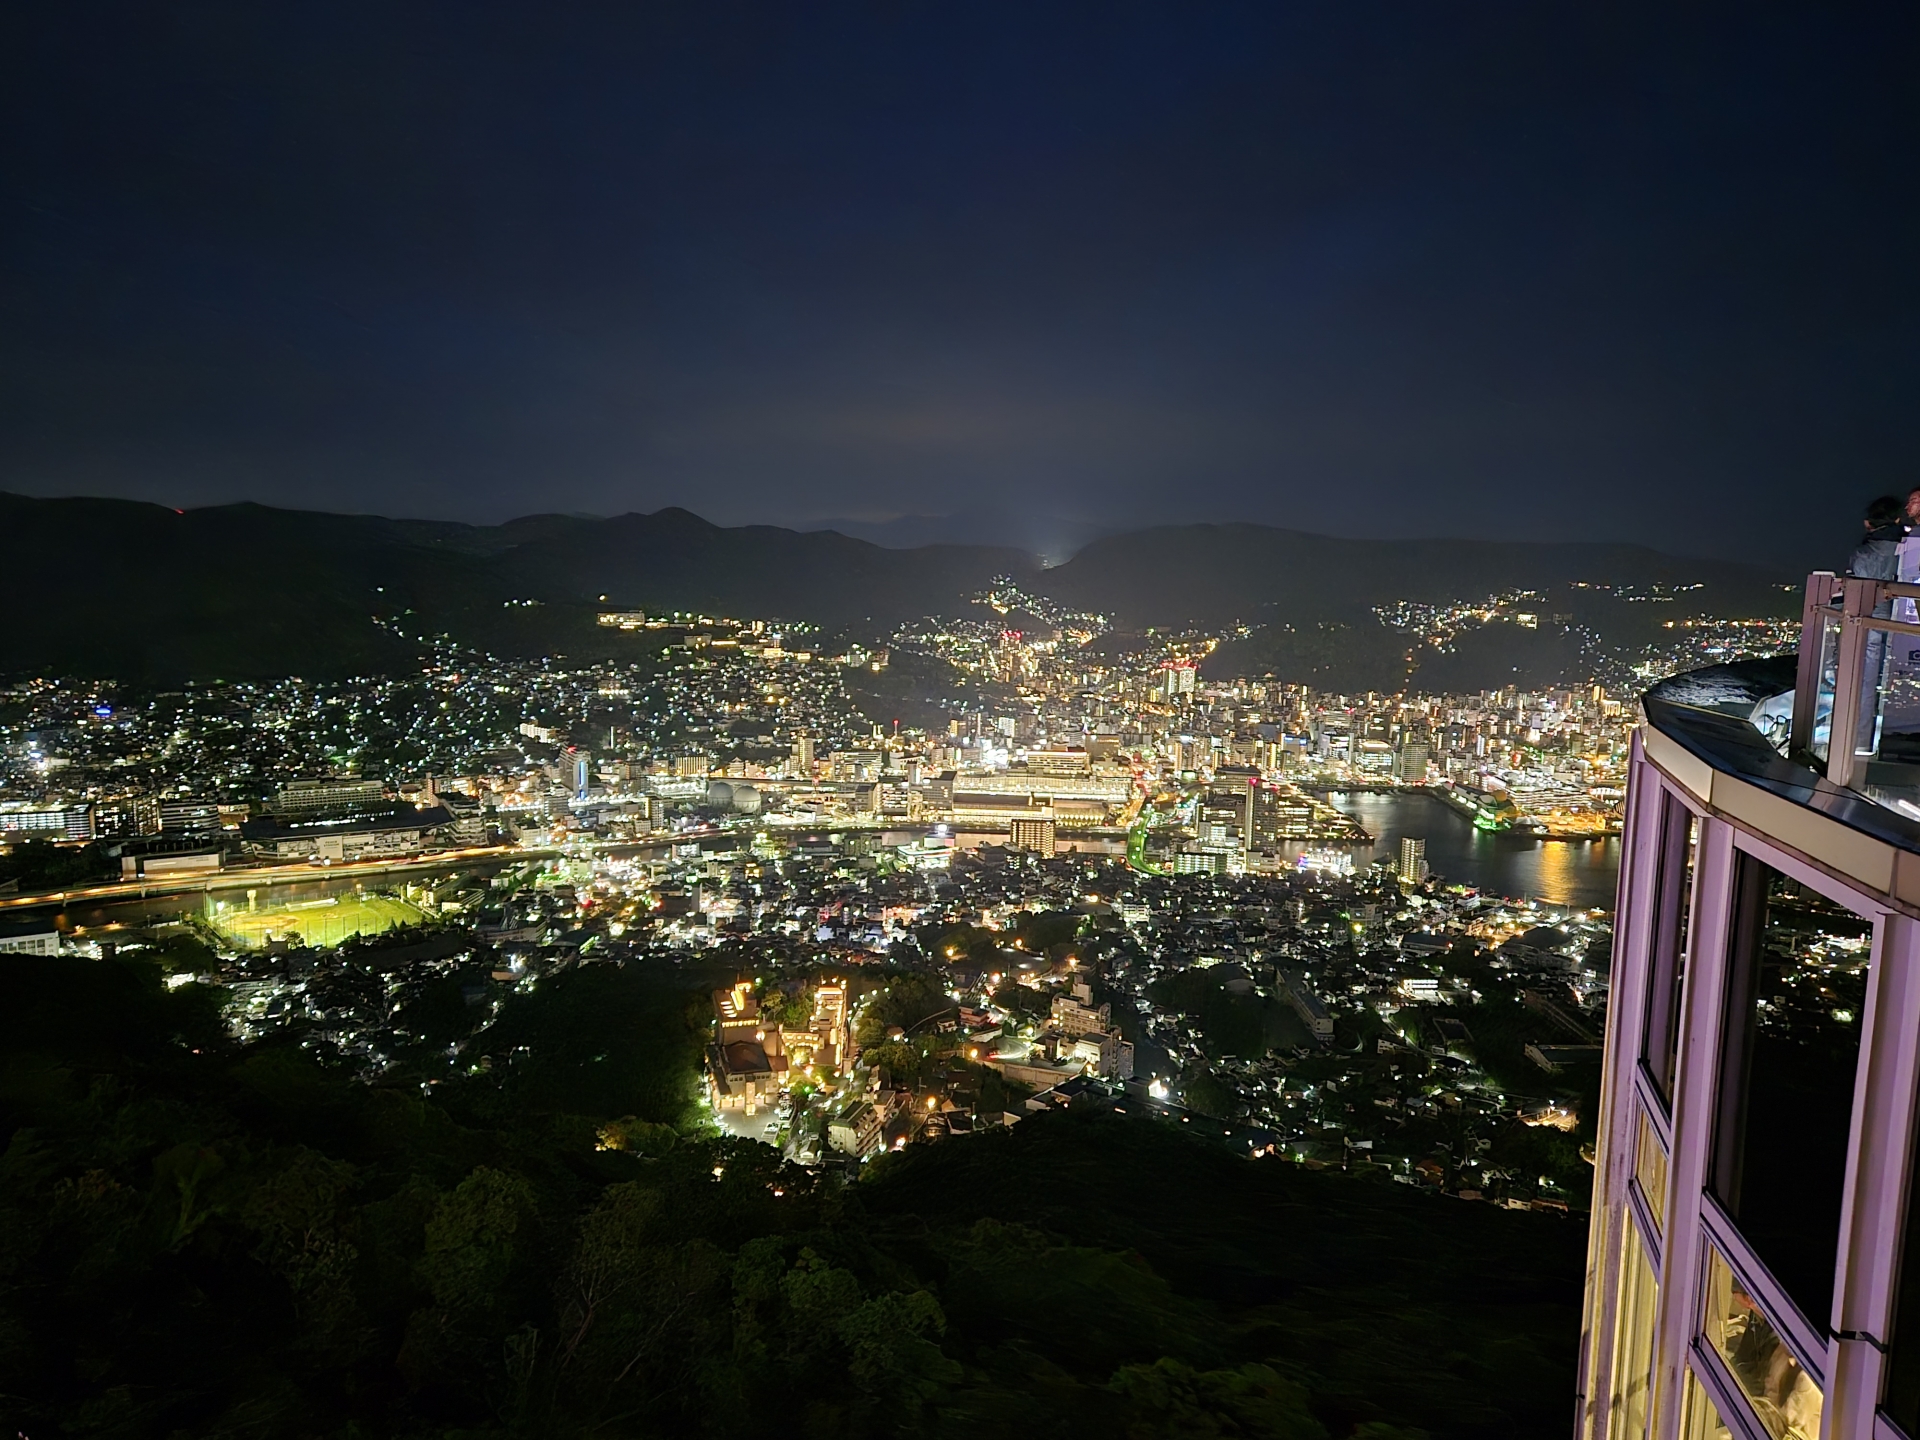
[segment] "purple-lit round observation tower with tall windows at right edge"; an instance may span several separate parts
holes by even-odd
[[[1797,660],[1644,697],[1582,1440],[1920,1436],[1920,647],[1874,618],[1899,589],[1816,574]]]

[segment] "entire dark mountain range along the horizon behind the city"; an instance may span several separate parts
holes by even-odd
[[[1002,574],[1127,628],[1321,622],[1580,580],[1701,584],[1688,611],[1759,614],[1782,611],[1786,580],[1636,545],[1367,541],[1254,524],[1106,536],[1043,568],[1020,549],[893,549],[833,530],[716,526],[685,509],[470,526],[0,492],[0,534],[15,597],[0,672],[152,682],[411,668],[417,637],[442,632],[499,653],[618,653],[620,637],[593,620],[603,609],[881,634],[954,612]]]

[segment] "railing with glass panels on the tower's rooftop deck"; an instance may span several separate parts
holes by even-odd
[[[1920,818],[1920,586],[1816,570],[1786,753]]]

